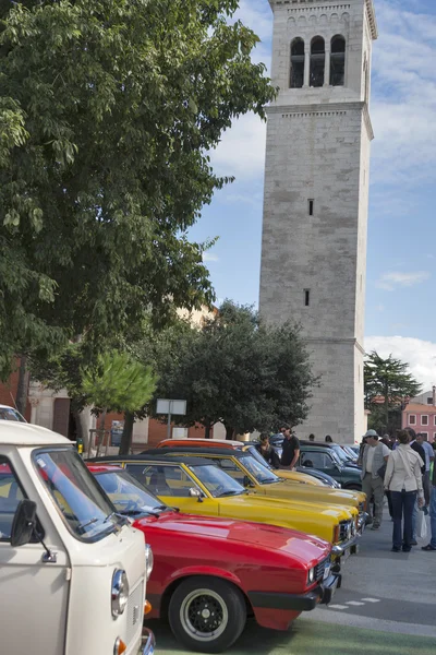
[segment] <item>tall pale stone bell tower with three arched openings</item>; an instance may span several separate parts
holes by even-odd
[[[299,437],[362,437],[373,0],[274,12],[259,309],[302,325],[320,386]]]

